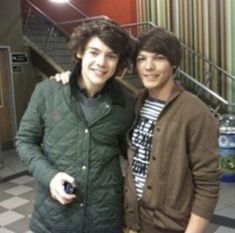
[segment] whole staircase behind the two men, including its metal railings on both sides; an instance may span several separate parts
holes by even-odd
[[[58,24],[37,9],[30,1],[27,0],[27,2],[30,10],[24,23],[24,40],[31,48],[32,63],[46,76],[51,76],[56,72],[72,70],[73,68],[70,51],[67,48],[69,35],[62,29],[62,25],[79,25],[86,21],[107,18],[106,16],[86,17]],[[152,22],[143,22],[126,24],[123,27],[133,37],[136,37],[144,30],[157,26]],[[235,103],[227,100],[227,86],[218,88],[218,83],[227,83],[227,80],[233,82],[235,77],[197,54],[186,45],[182,44],[182,47],[184,49],[184,62],[178,70],[175,79],[180,81],[187,90],[201,98],[215,116],[219,117],[227,112],[234,113]],[[186,62],[188,60],[191,62],[190,64]],[[200,72],[197,72],[197,67],[194,67],[194,64],[197,63],[203,64],[206,70],[199,67]],[[125,71],[117,79],[132,92],[142,88],[139,79],[131,71]]]

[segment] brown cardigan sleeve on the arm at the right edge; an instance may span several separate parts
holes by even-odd
[[[218,123],[206,108],[191,121],[188,149],[195,185],[192,212],[205,219],[213,214],[220,188],[218,132]]]

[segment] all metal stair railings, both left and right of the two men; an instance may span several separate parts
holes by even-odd
[[[97,20],[100,18],[108,19],[109,17],[105,15],[95,16],[95,17],[85,17],[82,19],[72,19],[61,22],[55,22],[50,17],[48,17],[44,12],[42,12],[38,7],[36,7],[29,0],[26,0],[30,5],[30,10],[25,20],[24,30],[27,29],[27,24],[30,18],[33,16],[33,12],[40,14],[41,17],[45,18],[50,22],[50,27],[48,29],[48,37],[45,40],[45,45],[43,50],[45,50],[51,41],[54,30],[59,30],[68,37],[68,33],[63,29],[64,25],[80,25],[87,21]],[[34,16],[33,16],[34,17]],[[157,27],[153,22],[140,22],[140,23],[130,23],[122,25],[133,37],[137,37],[140,33],[149,29],[151,27]],[[226,70],[215,65],[213,62],[209,61],[193,49],[182,43],[183,48],[183,59],[182,65],[177,72],[176,78],[179,79],[184,86],[194,91],[198,96],[206,97],[207,104],[212,103],[214,114],[219,112],[225,112],[230,109],[234,111],[235,103],[228,100],[228,83],[235,81],[235,77],[229,74]]]

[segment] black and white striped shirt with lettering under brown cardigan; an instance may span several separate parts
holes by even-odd
[[[139,119],[132,132],[131,140],[134,150],[132,171],[139,199],[142,197],[146,180],[154,126],[164,106],[163,101],[147,98],[140,109]]]

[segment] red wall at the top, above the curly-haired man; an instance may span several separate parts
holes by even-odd
[[[55,4],[49,0],[30,0],[55,22],[78,19],[81,15],[68,4]],[[70,0],[88,16],[106,15],[120,24],[136,22],[136,0]],[[25,12],[25,0],[21,0]]]

